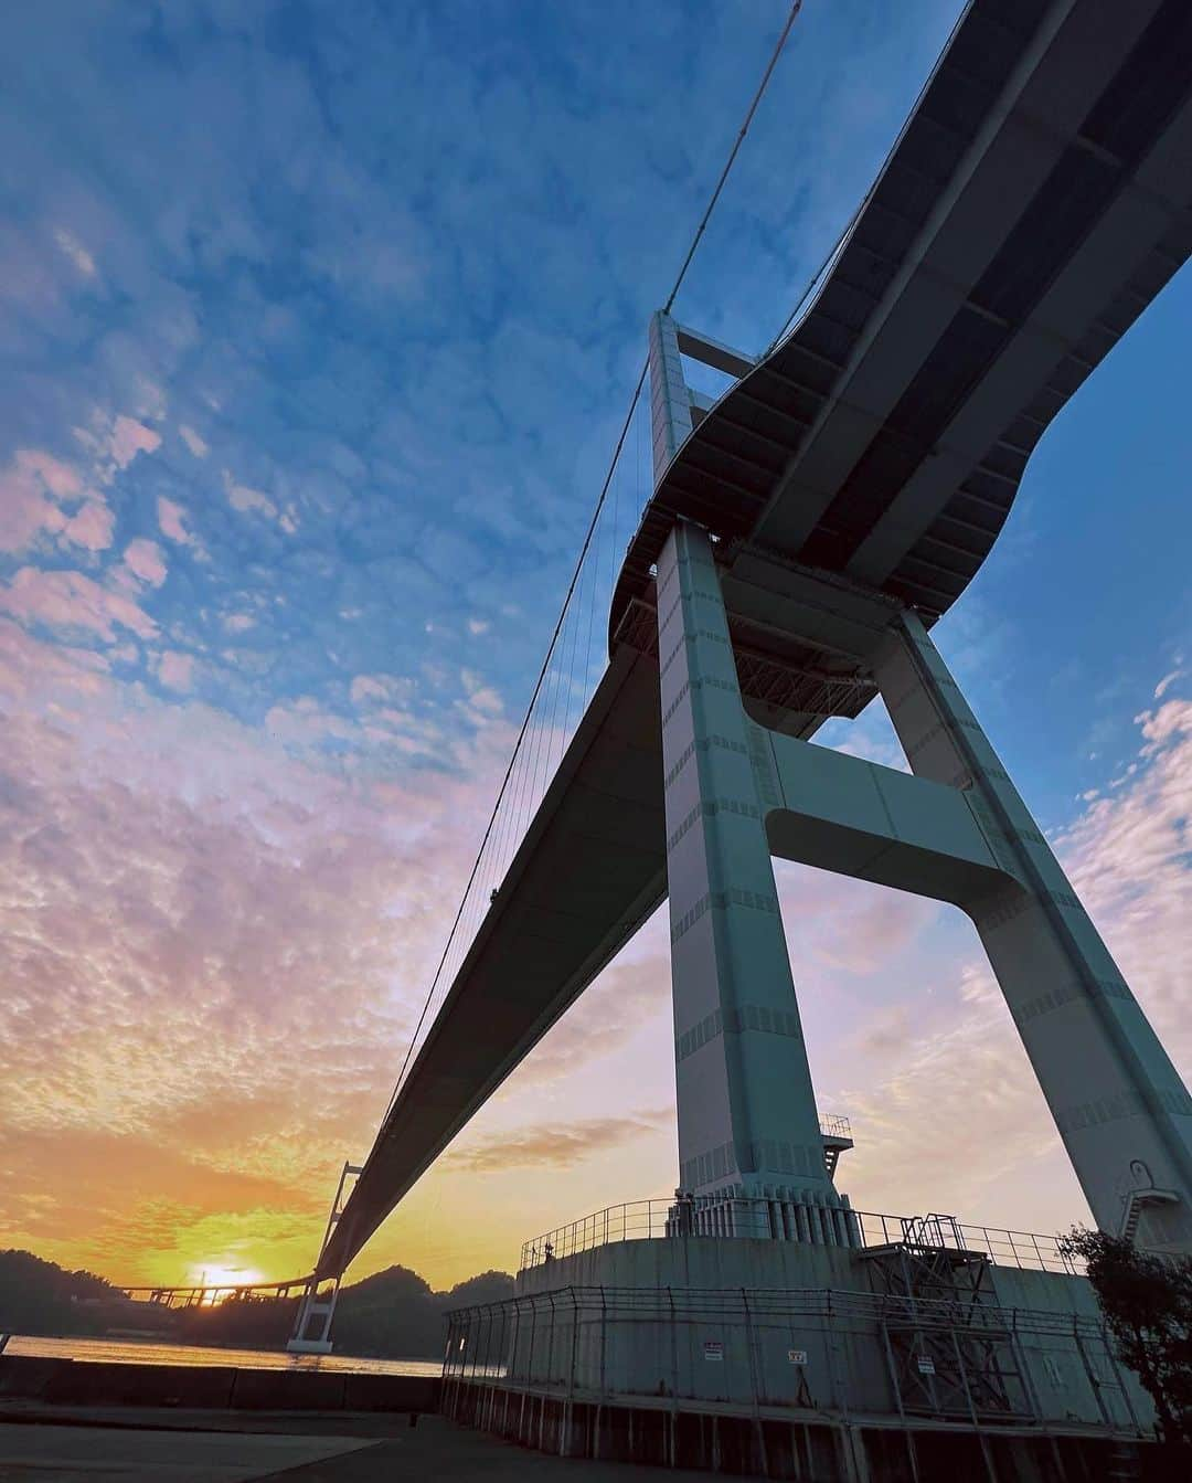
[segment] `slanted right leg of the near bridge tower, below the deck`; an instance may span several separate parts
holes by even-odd
[[[875,676],[912,770],[967,792],[1014,876],[968,911],[1097,1223],[1192,1250],[1192,1097],[916,614]]]

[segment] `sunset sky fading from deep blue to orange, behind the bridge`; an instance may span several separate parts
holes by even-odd
[[[676,303],[761,350],[958,0],[809,0]],[[0,21],[0,1246],[308,1271],[388,1100],[784,0],[47,0]],[[1188,1069],[1180,274],[936,641]],[[626,516],[627,518],[627,516]],[[617,532],[614,532],[617,534]],[[624,534],[624,532],[621,532]],[[879,707],[824,740],[891,764]],[[863,1210],[1087,1219],[959,912],[787,865]],[[655,916],[350,1277],[676,1179]]]

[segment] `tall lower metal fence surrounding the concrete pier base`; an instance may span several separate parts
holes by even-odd
[[[1116,1436],[1149,1425],[1105,1324],[1066,1309],[824,1287],[566,1286],[448,1314],[445,1415],[543,1446],[547,1397],[817,1421],[1075,1421]]]

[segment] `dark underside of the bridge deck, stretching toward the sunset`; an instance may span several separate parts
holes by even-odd
[[[857,715],[890,624],[964,592],[1051,418],[1192,251],[1191,85],[1186,0],[970,6],[808,314],[715,408],[676,411],[609,667],[322,1275],[666,896],[655,580],[676,521],[710,532],[746,713],[804,740]],[[769,833],[814,853],[805,826]]]

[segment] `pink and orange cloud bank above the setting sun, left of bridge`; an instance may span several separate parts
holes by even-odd
[[[299,1269],[387,1097],[491,765],[434,790],[311,768],[6,623],[0,710],[0,1226],[122,1280],[221,1235]]]

